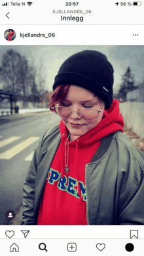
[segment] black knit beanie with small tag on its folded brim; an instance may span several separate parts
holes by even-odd
[[[107,57],[96,50],[84,50],[69,57],[58,71],[53,91],[59,85],[77,85],[90,90],[105,102],[105,109],[113,101],[113,67]]]

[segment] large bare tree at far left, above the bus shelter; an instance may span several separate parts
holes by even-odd
[[[26,96],[34,106],[45,98],[45,79],[43,78],[43,60],[40,59],[39,69],[28,65],[25,56],[9,49],[2,56],[0,81],[3,89],[20,96]]]

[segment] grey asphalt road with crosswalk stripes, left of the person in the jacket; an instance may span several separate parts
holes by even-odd
[[[9,225],[8,210],[22,206],[22,186],[33,151],[48,128],[60,123],[55,113],[33,113],[0,126],[0,225]]]

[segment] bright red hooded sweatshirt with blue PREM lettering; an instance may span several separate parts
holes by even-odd
[[[69,131],[61,120],[62,140],[46,179],[37,225],[87,225],[85,166],[92,160],[101,139],[118,130],[123,132],[123,126],[117,100],[113,100],[111,108],[104,111],[97,126],[74,141],[67,140]],[[68,153],[66,141],[69,143]],[[68,154],[68,174],[65,172],[65,154]]]

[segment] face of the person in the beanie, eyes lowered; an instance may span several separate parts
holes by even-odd
[[[62,106],[68,107],[69,109],[71,109],[71,111],[75,111],[71,113],[70,117],[61,117],[63,123],[71,133],[71,141],[77,139],[77,137],[79,136],[86,134],[86,132],[97,126],[103,117],[103,103],[101,103],[101,101],[99,101],[99,98],[97,96],[94,96],[92,92],[79,86],[72,85],[69,87],[67,97],[65,98],[65,100],[62,101]],[[99,113],[98,117],[96,117],[95,119],[86,120],[84,119],[84,117],[81,117],[77,113],[79,109],[82,109],[84,107],[92,107],[98,110],[100,110],[101,107],[103,107],[103,109],[101,113]],[[73,124],[81,125],[75,126]]]

